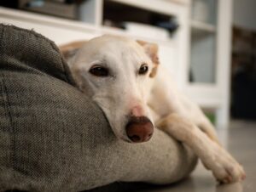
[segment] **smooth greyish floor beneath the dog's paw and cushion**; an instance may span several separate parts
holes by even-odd
[[[199,164],[192,175],[165,188],[152,192],[255,192],[256,191],[256,122],[232,121],[229,131],[218,130],[218,135],[247,173],[244,182],[218,185],[212,173]]]

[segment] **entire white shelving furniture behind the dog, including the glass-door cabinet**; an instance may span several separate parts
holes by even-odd
[[[0,7],[0,22],[33,29],[56,44],[86,40],[102,34],[115,34],[156,42],[160,47],[160,63],[166,65],[170,76],[177,81],[179,88],[203,108],[216,110],[218,127],[225,127],[229,121],[229,64],[230,64],[230,25],[232,0],[204,0],[209,6],[218,1],[215,20],[205,22],[191,20],[192,0],[86,0],[80,6],[81,21],[66,20],[44,14],[35,14],[10,8]],[[193,0],[194,1],[194,0]],[[201,0],[203,1],[203,0]],[[131,34],[128,31],[105,26],[107,3],[118,3],[120,6],[138,8],[147,13],[164,14],[175,17],[179,29],[172,37],[160,40],[158,37],[144,37]],[[83,10],[83,11],[81,11]],[[107,9],[108,11],[108,9]],[[214,11],[211,11],[211,14]],[[221,30],[220,30],[221,29]],[[206,43],[207,42],[207,43]],[[215,54],[209,59],[211,43],[216,46]],[[193,48],[193,46],[195,48]],[[207,55],[207,53],[209,55]],[[189,71],[195,65],[190,65],[191,59],[198,59],[201,55],[210,62],[212,67],[211,81],[189,81]],[[204,67],[206,67],[206,65]],[[203,69],[204,67],[200,67]],[[206,68],[207,69],[207,68]],[[196,67],[194,69],[196,71]],[[199,74],[201,71],[198,72]]]

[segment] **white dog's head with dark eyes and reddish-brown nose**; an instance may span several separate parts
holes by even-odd
[[[79,48],[70,64],[79,87],[102,108],[113,133],[128,142],[151,138],[147,100],[158,58],[157,45],[102,36]]]

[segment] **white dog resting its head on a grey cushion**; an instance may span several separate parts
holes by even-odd
[[[71,57],[75,81],[102,108],[117,138],[146,142],[157,127],[187,144],[220,183],[246,177],[199,106],[179,92],[160,65],[156,44],[104,35],[61,51]]]

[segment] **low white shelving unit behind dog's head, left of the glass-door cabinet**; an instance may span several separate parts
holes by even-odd
[[[130,34],[125,30],[103,25],[103,12],[106,3],[119,3],[123,6],[141,8],[143,11],[176,17],[181,27],[174,37],[170,37],[165,41],[159,40],[158,37],[143,37],[142,35]],[[161,63],[167,66],[170,74],[177,79],[177,82],[181,82],[184,79],[185,74],[182,71],[187,59],[183,57],[183,54],[187,54],[187,42],[189,39],[188,0],[152,0],[150,3],[148,3],[148,0],[86,0],[81,5],[81,9],[84,12],[84,14],[80,14],[81,21],[74,21],[16,9],[0,8],[0,22],[34,29],[49,37],[58,45],[90,39],[106,33],[156,42],[160,46]]]

